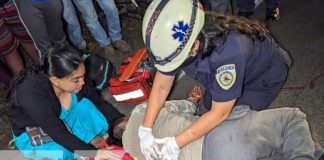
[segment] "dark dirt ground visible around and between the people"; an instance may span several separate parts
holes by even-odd
[[[264,7],[264,4],[260,5],[253,19],[262,19],[265,14]],[[322,146],[324,145],[323,7],[324,1],[320,0],[282,0],[281,18],[278,22],[270,24],[272,34],[294,59],[294,66],[290,70],[288,80],[270,108],[300,108],[307,115],[314,140]],[[123,59],[132,55],[136,49],[144,46],[141,23],[130,18],[122,17],[121,19],[124,39],[131,44],[132,51],[128,54],[107,55],[116,67]],[[100,49],[90,36],[89,31],[84,29],[83,34],[88,42],[89,52],[100,53]],[[163,42],[161,43],[163,45]],[[197,82],[184,76],[173,88],[169,99],[184,98],[186,96],[184,90],[196,84]],[[6,92],[4,86],[0,84],[0,150],[7,149],[7,143],[11,139],[10,126],[4,107]],[[124,114],[130,113],[135,106],[116,104],[107,91],[102,95]]]

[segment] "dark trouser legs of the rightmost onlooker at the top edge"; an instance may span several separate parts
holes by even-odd
[[[269,9],[279,7],[280,0],[265,0]],[[237,7],[243,12],[254,12],[255,0],[237,0]]]

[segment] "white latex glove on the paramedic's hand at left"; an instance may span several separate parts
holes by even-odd
[[[152,134],[152,128],[145,128],[142,125],[138,129],[138,137],[140,139],[141,152],[146,160],[158,159],[159,146],[155,142]]]

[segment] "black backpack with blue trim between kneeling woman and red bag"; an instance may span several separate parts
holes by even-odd
[[[86,68],[86,77],[94,82],[97,90],[103,90],[110,86],[109,80],[116,73],[116,68],[109,59],[95,54],[83,55]]]

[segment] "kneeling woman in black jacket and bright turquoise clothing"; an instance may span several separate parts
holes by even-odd
[[[8,116],[16,147],[26,158],[73,159],[75,150],[96,150],[98,137],[123,119],[84,75],[78,51],[66,48],[54,49],[44,66],[30,67],[15,80]]]

